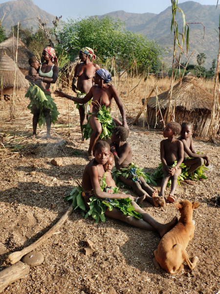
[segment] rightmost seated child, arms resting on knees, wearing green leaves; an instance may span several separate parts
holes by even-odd
[[[184,182],[189,185],[194,185],[194,179],[207,179],[203,170],[208,170],[206,167],[209,166],[209,156],[207,154],[200,154],[199,152],[197,153],[194,150],[192,137],[193,132],[193,124],[190,122],[184,122],[181,125],[181,136],[178,138],[178,140],[183,143],[183,164],[187,167],[186,171],[188,173],[188,176]]]

